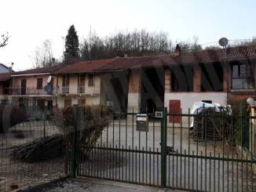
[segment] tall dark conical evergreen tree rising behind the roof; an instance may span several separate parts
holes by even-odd
[[[65,38],[64,63],[73,63],[79,60],[79,36],[75,26],[71,25]]]

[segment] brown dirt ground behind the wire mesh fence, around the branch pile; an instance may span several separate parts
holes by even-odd
[[[45,126],[44,126],[45,125]],[[45,128],[45,132],[44,132]],[[23,188],[64,176],[64,158],[26,163],[12,158],[13,147],[58,133],[49,121],[25,122],[0,134],[0,191]]]

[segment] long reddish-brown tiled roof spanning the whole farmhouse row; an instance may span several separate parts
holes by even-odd
[[[141,67],[167,67],[175,64],[189,63],[218,63],[225,59],[223,49],[210,49],[197,52],[181,52],[180,55],[169,54],[163,56],[133,56],[119,57],[107,60],[83,61],[66,66],[37,68],[18,71],[13,74],[79,74],[100,71],[118,71],[138,69]],[[226,50],[227,60],[256,59],[256,46],[232,47]]]

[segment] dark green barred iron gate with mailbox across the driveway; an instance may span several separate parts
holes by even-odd
[[[256,161],[244,147],[250,139],[244,122],[253,117],[229,116],[226,126],[223,114],[174,114],[165,108],[163,118],[148,114],[148,131],[141,132],[137,113],[117,114],[88,156],[74,144],[73,176],[182,190],[255,191]],[[177,116],[180,124],[169,123]]]

